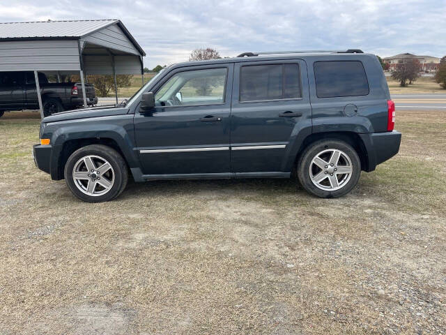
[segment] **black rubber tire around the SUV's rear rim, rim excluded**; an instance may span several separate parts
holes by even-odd
[[[339,149],[343,151],[350,158],[352,163],[353,172],[351,174],[350,180],[344,187],[339,188],[339,190],[336,191],[321,190],[321,188],[318,188],[316,185],[313,184],[313,181],[309,176],[309,165],[311,164],[312,159],[314,158],[314,156],[316,156],[316,154],[326,149]],[[342,142],[339,140],[321,140],[315,142],[302,154],[298,162],[298,179],[300,181],[300,184],[307,191],[309,191],[309,193],[312,193],[321,198],[338,198],[342,195],[346,195],[355,187],[357,181],[360,179],[360,175],[361,161],[359,156],[357,156],[355,149],[353,149],[353,147],[351,147],[351,145],[347,144],[346,142]]]

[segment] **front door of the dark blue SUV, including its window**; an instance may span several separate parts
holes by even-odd
[[[233,64],[171,70],[153,88],[153,112],[135,111],[134,131],[148,178],[230,177]]]

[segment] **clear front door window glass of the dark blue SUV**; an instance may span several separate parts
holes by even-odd
[[[226,73],[226,68],[176,73],[155,94],[155,105],[169,107],[224,103]]]

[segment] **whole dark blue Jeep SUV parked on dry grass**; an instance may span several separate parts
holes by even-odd
[[[42,120],[36,165],[86,202],[128,174],[155,179],[290,178],[336,198],[399,151],[395,108],[374,54],[246,52],[164,68],[114,107]]]

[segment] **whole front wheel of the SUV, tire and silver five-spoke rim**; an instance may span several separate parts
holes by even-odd
[[[111,147],[92,144],[77,149],[65,165],[70,191],[85,202],[104,202],[124,191],[128,181],[123,157]]]

